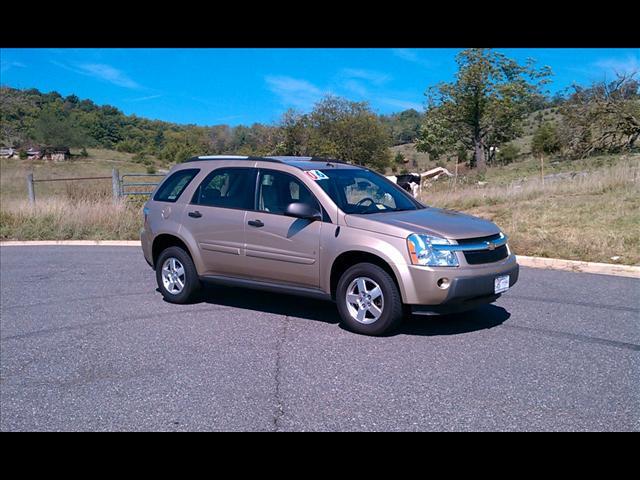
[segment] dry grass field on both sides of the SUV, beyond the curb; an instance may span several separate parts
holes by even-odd
[[[140,198],[114,204],[110,180],[36,184],[29,205],[31,169],[36,179],[146,171],[127,154],[90,153],[60,163],[0,160],[0,239],[137,239]],[[517,254],[640,264],[640,155],[551,161],[544,173],[543,184],[535,159],[481,175],[460,169],[457,179],[425,189],[423,200],[495,221]]]

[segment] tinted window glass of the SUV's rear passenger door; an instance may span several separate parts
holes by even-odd
[[[196,189],[191,203],[208,207],[253,210],[255,169],[214,170]]]

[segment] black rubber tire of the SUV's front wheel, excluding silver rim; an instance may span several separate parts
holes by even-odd
[[[382,314],[373,323],[365,324],[357,321],[351,316],[347,307],[347,289],[358,277],[367,277],[376,282],[384,296]],[[336,288],[336,303],[342,318],[342,326],[352,332],[372,336],[384,335],[393,332],[402,322],[403,305],[398,287],[384,269],[373,263],[358,263],[342,274]]]

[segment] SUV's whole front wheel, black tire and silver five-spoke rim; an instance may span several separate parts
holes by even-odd
[[[336,289],[342,324],[365,335],[383,335],[402,320],[402,298],[393,278],[372,263],[358,263],[345,271]]]

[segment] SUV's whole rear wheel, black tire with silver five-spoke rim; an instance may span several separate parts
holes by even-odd
[[[162,296],[171,303],[189,303],[200,290],[193,260],[180,247],[169,247],[158,256],[156,281]]]

